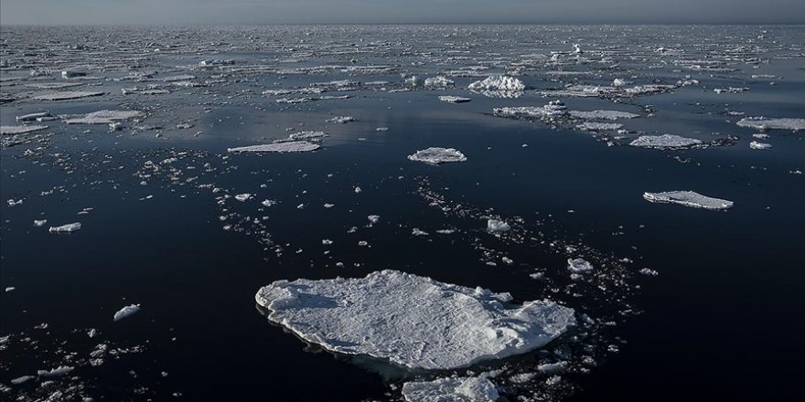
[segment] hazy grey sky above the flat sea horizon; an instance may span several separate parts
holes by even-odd
[[[805,0],[0,0],[2,24],[805,23]]]

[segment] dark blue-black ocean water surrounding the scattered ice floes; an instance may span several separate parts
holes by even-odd
[[[53,42],[73,43],[83,34],[61,32],[59,37],[51,32],[51,50],[45,52],[36,40],[27,43],[26,31],[20,29],[4,27],[2,58],[12,65],[38,59],[42,66],[61,69],[76,63]],[[234,66],[289,69],[357,59],[359,65],[395,69],[355,76],[188,68],[208,79],[218,79],[212,76],[220,73],[222,82],[168,95],[126,97],[120,88],[134,84],[103,79],[97,90],[109,95],[60,102],[26,100],[33,90],[4,82],[3,93],[16,100],[3,105],[3,125],[16,124],[14,116],[42,110],[67,114],[134,109],[148,111],[145,123],[165,127],[156,137],[156,131],[133,135],[134,123],[126,123],[122,132],[107,132],[106,125],[46,122],[51,128],[43,138],[4,145],[0,288],[16,288],[0,293],[0,337],[9,335],[0,345],[0,384],[8,386],[2,394],[8,400],[37,400],[57,389],[67,395],[68,386],[78,386],[82,395],[96,400],[400,398],[398,386],[416,376],[352,364],[344,356],[317,351],[268,323],[253,298],[255,291],[274,280],[362,277],[383,269],[510,291],[517,300],[550,297],[580,312],[617,317],[612,319],[615,325],[595,333],[593,342],[594,349],[604,350],[617,344],[617,352],[599,354],[596,349],[596,365],[589,373],[569,373],[564,381],[572,386],[560,390],[545,390],[542,378],[531,386],[499,385],[508,400],[549,391],[554,394],[545,395],[573,401],[783,401],[800,396],[797,380],[805,371],[800,323],[805,316],[801,230],[805,185],[801,174],[791,172],[805,168],[803,135],[770,131],[769,139],[757,141],[774,148],[751,150],[748,143],[757,131],[736,126],[743,116],[725,111],[805,118],[801,26],[696,27],[708,34],[707,40],[684,26],[461,26],[456,27],[457,39],[445,37],[453,31],[446,26],[420,30],[362,26],[351,31],[321,27],[306,41],[300,37],[310,27],[276,32],[241,29],[227,28],[220,40],[199,48],[193,47],[198,33],[166,30],[163,41],[174,40],[180,49],[159,58],[146,56],[143,66],[131,69],[168,70],[198,64],[203,58],[233,58]],[[86,33],[93,48],[85,50],[86,64],[81,66],[92,74],[122,76],[126,69],[108,67],[113,64],[109,58],[125,56],[127,47],[103,34]],[[272,43],[270,49],[248,46],[260,36],[270,39],[265,39]],[[158,36],[141,32],[132,37]],[[361,38],[363,43],[383,39],[389,44],[361,52],[362,45],[351,46],[360,44]],[[747,44],[748,39],[757,41]],[[459,48],[466,49],[471,59],[445,61],[444,52],[453,48],[449,46],[453,40],[466,45]],[[277,97],[260,94],[333,79],[387,80],[386,87],[402,88],[401,73],[432,77],[452,64],[493,66],[490,74],[511,71],[522,55],[567,52],[571,48],[564,40],[582,42],[590,59],[571,59],[558,66],[531,63],[518,77],[529,87],[518,99],[486,98],[466,90],[469,82],[483,77],[454,78],[455,89],[444,91],[390,93],[361,86],[343,92],[351,96],[349,100],[292,106],[278,105]],[[333,43],[348,51],[325,46]],[[39,55],[24,55],[25,45],[38,49],[29,52]],[[725,50],[739,45],[746,48]],[[681,55],[660,58],[651,50],[660,46],[679,48]],[[95,52],[101,56],[93,56]],[[143,56],[140,50],[129,53]],[[292,56],[304,60],[288,63],[290,67],[277,60]],[[681,70],[672,60],[683,58],[718,59],[734,70]],[[649,69],[658,64],[662,67]],[[32,68],[3,69],[2,77],[26,77]],[[556,69],[589,75],[557,82],[544,73]],[[178,72],[160,74],[171,73]],[[757,74],[777,79],[751,78]],[[564,102],[572,110],[639,113],[638,119],[619,121],[637,132],[702,139],[735,135],[732,146],[640,149],[625,145],[633,134],[628,140],[615,140],[622,146],[607,146],[612,133],[596,138],[568,127],[553,129],[542,122],[491,115],[495,107],[541,106],[553,98],[542,97],[538,90],[561,88],[564,83],[608,85],[617,77],[639,84],[673,83],[685,75],[699,79],[700,85],[617,102],[598,98]],[[769,85],[769,80],[776,85]],[[725,87],[750,91],[712,90]],[[79,90],[96,90],[92,88]],[[436,96],[443,94],[469,96],[472,101],[458,105],[438,101]],[[647,107],[652,116],[645,112]],[[335,115],[353,116],[356,122],[325,123]],[[194,128],[173,128],[188,119],[195,122]],[[329,137],[313,153],[226,152],[228,147],[284,138],[289,127],[322,130]],[[377,127],[389,130],[379,132]],[[195,132],[201,134],[194,136]],[[468,160],[432,166],[406,159],[430,146],[455,147]],[[177,161],[163,163],[171,157]],[[149,160],[161,166],[160,172],[136,175],[143,173]],[[176,180],[169,178],[171,167],[181,170]],[[188,177],[197,178],[188,181]],[[356,193],[355,186],[362,191]],[[52,194],[41,195],[54,187]],[[423,188],[466,213],[444,213],[429,206]],[[735,201],[735,207],[707,211],[651,204],[642,198],[647,191],[670,190],[725,198]],[[216,198],[241,193],[252,194],[252,199],[241,203]],[[24,202],[5,203],[17,199]],[[263,207],[263,199],[278,204]],[[335,206],[325,208],[325,203]],[[300,204],[305,207],[297,208]],[[77,215],[88,207],[93,208],[88,214]],[[381,216],[380,224],[367,227],[367,216],[374,214]],[[511,222],[521,217],[518,227],[527,232],[525,237],[544,241],[494,238],[485,232],[486,221],[478,214]],[[253,223],[255,218],[259,225]],[[34,227],[35,219],[48,223]],[[70,235],[48,233],[48,227],[70,222],[81,222],[81,230]],[[226,225],[231,227],[222,229]],[[357,230],[348,233],[350,227]],[[412,236],[413,227],[430,235]],[[456,234],[435,233],[445,227],[456,228]],[[323,245],[325,238],[334,244]],[[359,246],[360,240],[370,247]],[[566,276],[568,257],[551,246],[553,241],[596,250],[588,251],[599,256],[596,261],[632,260],[624,264],[630,272],[627,285],[573,296],[578,288],[559,279]],[[482,254],[485,248],[515,262],[506,265],[498,260],[497,266],[489,266]],[[638,271],[643,268],[659,275],[641,275]],[[535,269],[552,277],[550,285],[529,277]],[[559,291],[551,291],[552,287]],[[140,303],[142,311],[113,323],[114,312],[132,303]],[[40,323],[47,323],[47,328],[34,328]],[[90,328],[99,334],[90,338],[86,335]],[[88,355],[101,343],[122,352],[107,354],[97,367],[88,365]],[[516,371],[544,357],[536,351],[509,359],[505,366]],[[41,378],[10,384],[18,376],[59,365],[76,368],[49,385],[53,388],[40,386]],[[482,365],[477,371],[487,368]]]

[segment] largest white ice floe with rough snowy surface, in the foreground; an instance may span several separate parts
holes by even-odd
[[[397,270],[366,278],[275,281],[255,295],[268,319],[340,354],[410,369],[452,369],[540,348],[575,324],[551,301],[515,305],[509,293]]]

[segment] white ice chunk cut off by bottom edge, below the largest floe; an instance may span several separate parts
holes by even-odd
[[[498,388],[486,377],[449,377],[402,385],[406,402],[494,402]]]

